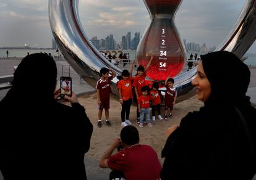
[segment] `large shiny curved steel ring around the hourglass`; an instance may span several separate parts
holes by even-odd
[[[110,63],[93,46],[83,31],[79,18],[79,0],[49,0],[49,22],[59,49],[67,62],[91,86],[95,86],[102,67],[112,68],[117,75],[121,70]],[[216,49],[233,52],[242,57],[256,38],[256,0],[245,1],[236,24],[228,38]],[[185,100],[195,93],[191,91],[192,80],[195,78],[197,68],[176,76],[175,87],[178,101]],[[117,78],[111,82],[114,94],[118,94]]]

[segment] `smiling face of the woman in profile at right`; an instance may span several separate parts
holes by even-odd
[[[192,85],[197,88],[197,99],[205,102],[211,94],[211,84],[203,71],[202,61],[197,67],[197,76],[192,81]]]

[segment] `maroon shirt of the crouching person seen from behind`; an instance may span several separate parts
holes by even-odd
[[[134,145],[108,158],[111,170],[122,171],[126,179],[159,180],[161,165],[149,145]]]

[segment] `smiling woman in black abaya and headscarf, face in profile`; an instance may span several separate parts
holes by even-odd
[[[254,177],[256,110],[245,96],[249,82],[249,68],[231,52],[201,56],[192,84],[204,107],[169,128],[161,179]]]

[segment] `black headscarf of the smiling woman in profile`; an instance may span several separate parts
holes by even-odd
[[[236,55],[216,51],[201,56],[203,70],[211,84],[206,103],[216,100],[239,102],[245,98],[250,83],[250,70]]]

